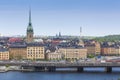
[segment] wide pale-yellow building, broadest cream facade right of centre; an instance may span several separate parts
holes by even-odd
[[[85,59],[87,58],[87,49],[83,47],[63,47],[59,48],[59,52],[62,53],[62,57],[65,59]]]

